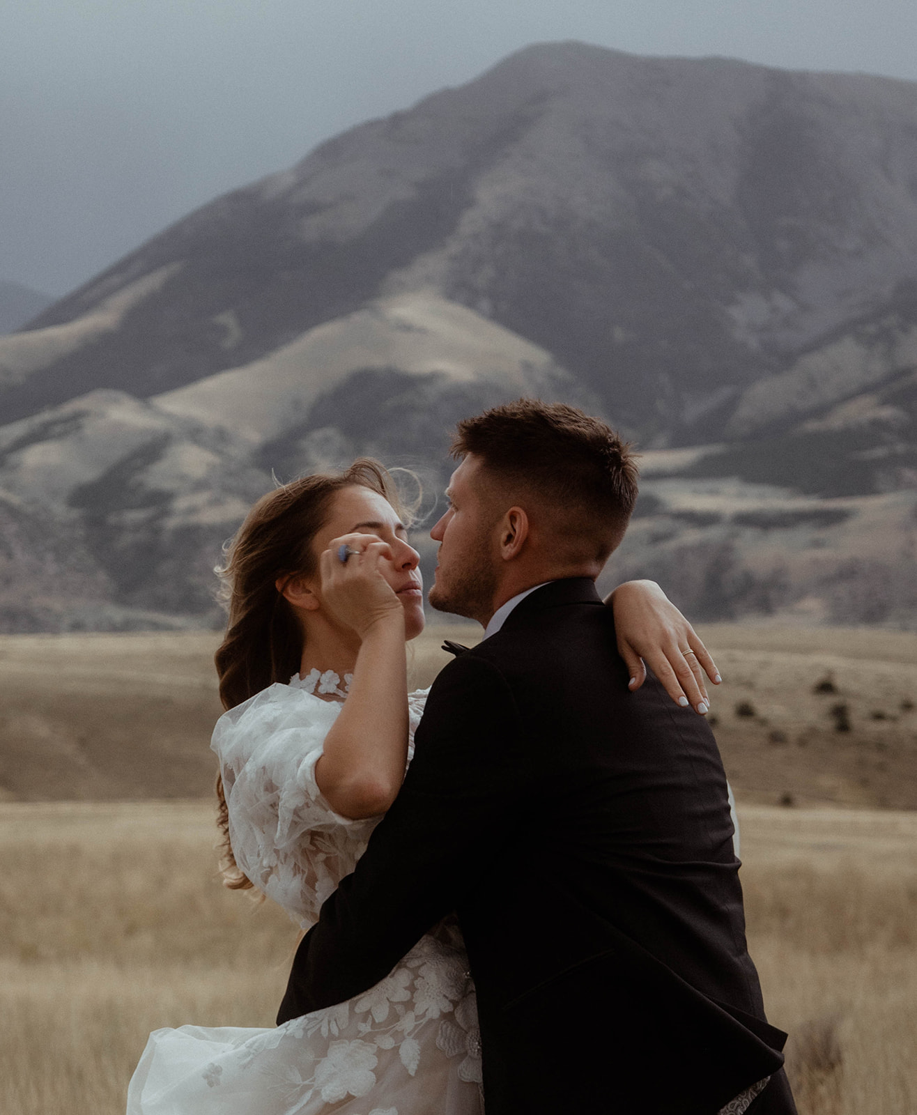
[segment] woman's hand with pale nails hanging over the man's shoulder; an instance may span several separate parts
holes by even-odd
[[[706,678],[714,685],[722,679],[707,648],[659,585],[628,581],[606,603],[615,609],[618,652],[630,671],[628,688],[640,688],[648,666],[676,705],[691,705],[703,716],[710,709]]]

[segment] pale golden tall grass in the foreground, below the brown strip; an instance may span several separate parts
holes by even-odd
[[[913,1115],[917,814],[750,805],[741,824],[802,1115]],[[149,1030],[271,1025],[296,930],[221,888],[212,845],[209,803],[0,804],[3,1115],[123,1115]]]

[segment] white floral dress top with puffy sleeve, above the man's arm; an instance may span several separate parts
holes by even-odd
[[[335,813],[316,783],[316,764],[348,680],[341,688],[337,675],[313,670],[307,678],[295,675],[289,685],[276,682],[224,712],[211,741],[235,862],[303,928],[354,870],[382,820]],[[408,697],[408,762],[426,694]]]

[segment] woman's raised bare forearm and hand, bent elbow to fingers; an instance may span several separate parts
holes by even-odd
[[[407,667],[404,609],[379,571],[392,556],[367,535],[335,539],[320,558],[322,605],[360,640],[350,689],[325,740],[316,780],[331,807],[360,820],[385,813],[407,763]],[[363,554],[347,563],[338,550],[358,542]]]

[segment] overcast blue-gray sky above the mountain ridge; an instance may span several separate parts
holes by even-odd
[[[0,0],[0,279],[64,294],[319,140],[559,39],[917,80],[915,0]]]

